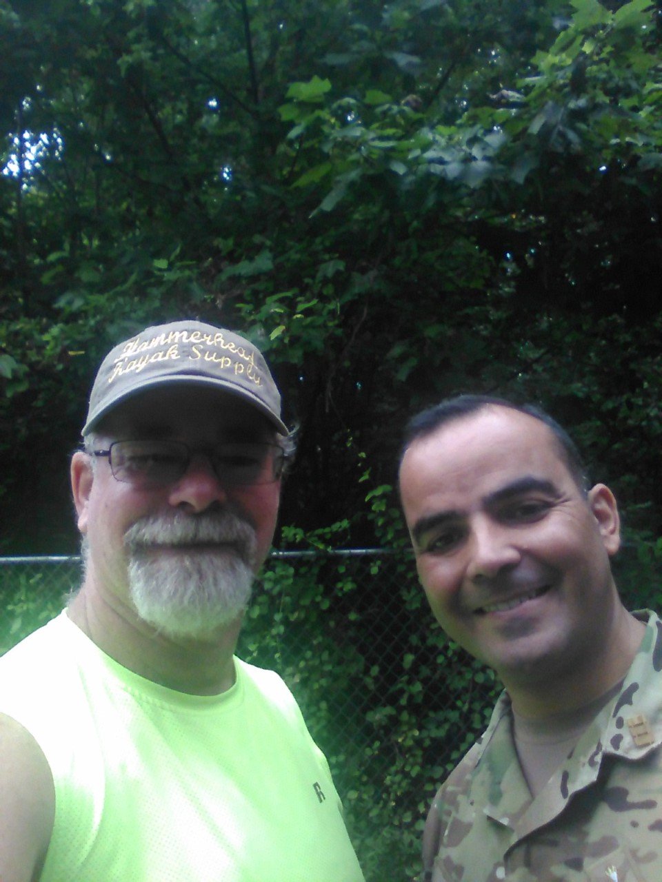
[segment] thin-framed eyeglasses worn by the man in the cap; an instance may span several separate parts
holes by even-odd
[[[204,453],[224,487],[273,483],[281,477],[285,463],[282,447],[257,442],[191,448],[181,441],[115,441],[108,450],[91,453],[108,457],[113,477],[138,490],[176,483],[197,453]]]

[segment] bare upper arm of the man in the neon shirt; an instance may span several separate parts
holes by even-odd
[[[0,714],[0,879],[35,882],[55,818],[49,764],[34,737]]]

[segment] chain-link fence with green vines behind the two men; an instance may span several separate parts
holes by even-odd
[[[0,654],[62,609],[79,581],[78,557],[0,558]],[[433,623],[410,557],[275,552],[237,654],[279,671],[296,694],[366,878],[412,878],[426,807],[484,727],[494,684]]]

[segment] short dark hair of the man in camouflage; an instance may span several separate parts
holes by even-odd
[[[545,426],[552,431],[559,446],[560,455],[577,487],[584,494],[588,492],[590,484],[586,467],[584,466],[581,453],[573,439],[568,435],[568,432],[552,416],[546,414],[544,410],[534,404],[515,404],[513,401],[493,395],[456,395],[455,398],[440,401],[439,404],[427,407],[417,415],[412,416],[404,430],[400,450],[400,465],[402,465],[402,458],[405,452],[418,438],[431,435],[440,426],[446,425],[448,422],[462,419],[464,416],[470,416],[471,414],[477,414],[479,411],[484,410],[485,407],[507,407],[509,410],[515,410],[520,414],[532,416],[534,420],[545,423]]]

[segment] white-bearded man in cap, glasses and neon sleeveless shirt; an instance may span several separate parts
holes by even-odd
[[[360,882],[295,700],[234,655],[287,440],[259,350],[147,328],[83,436],[83,585],[0,660],[0,879]]]

